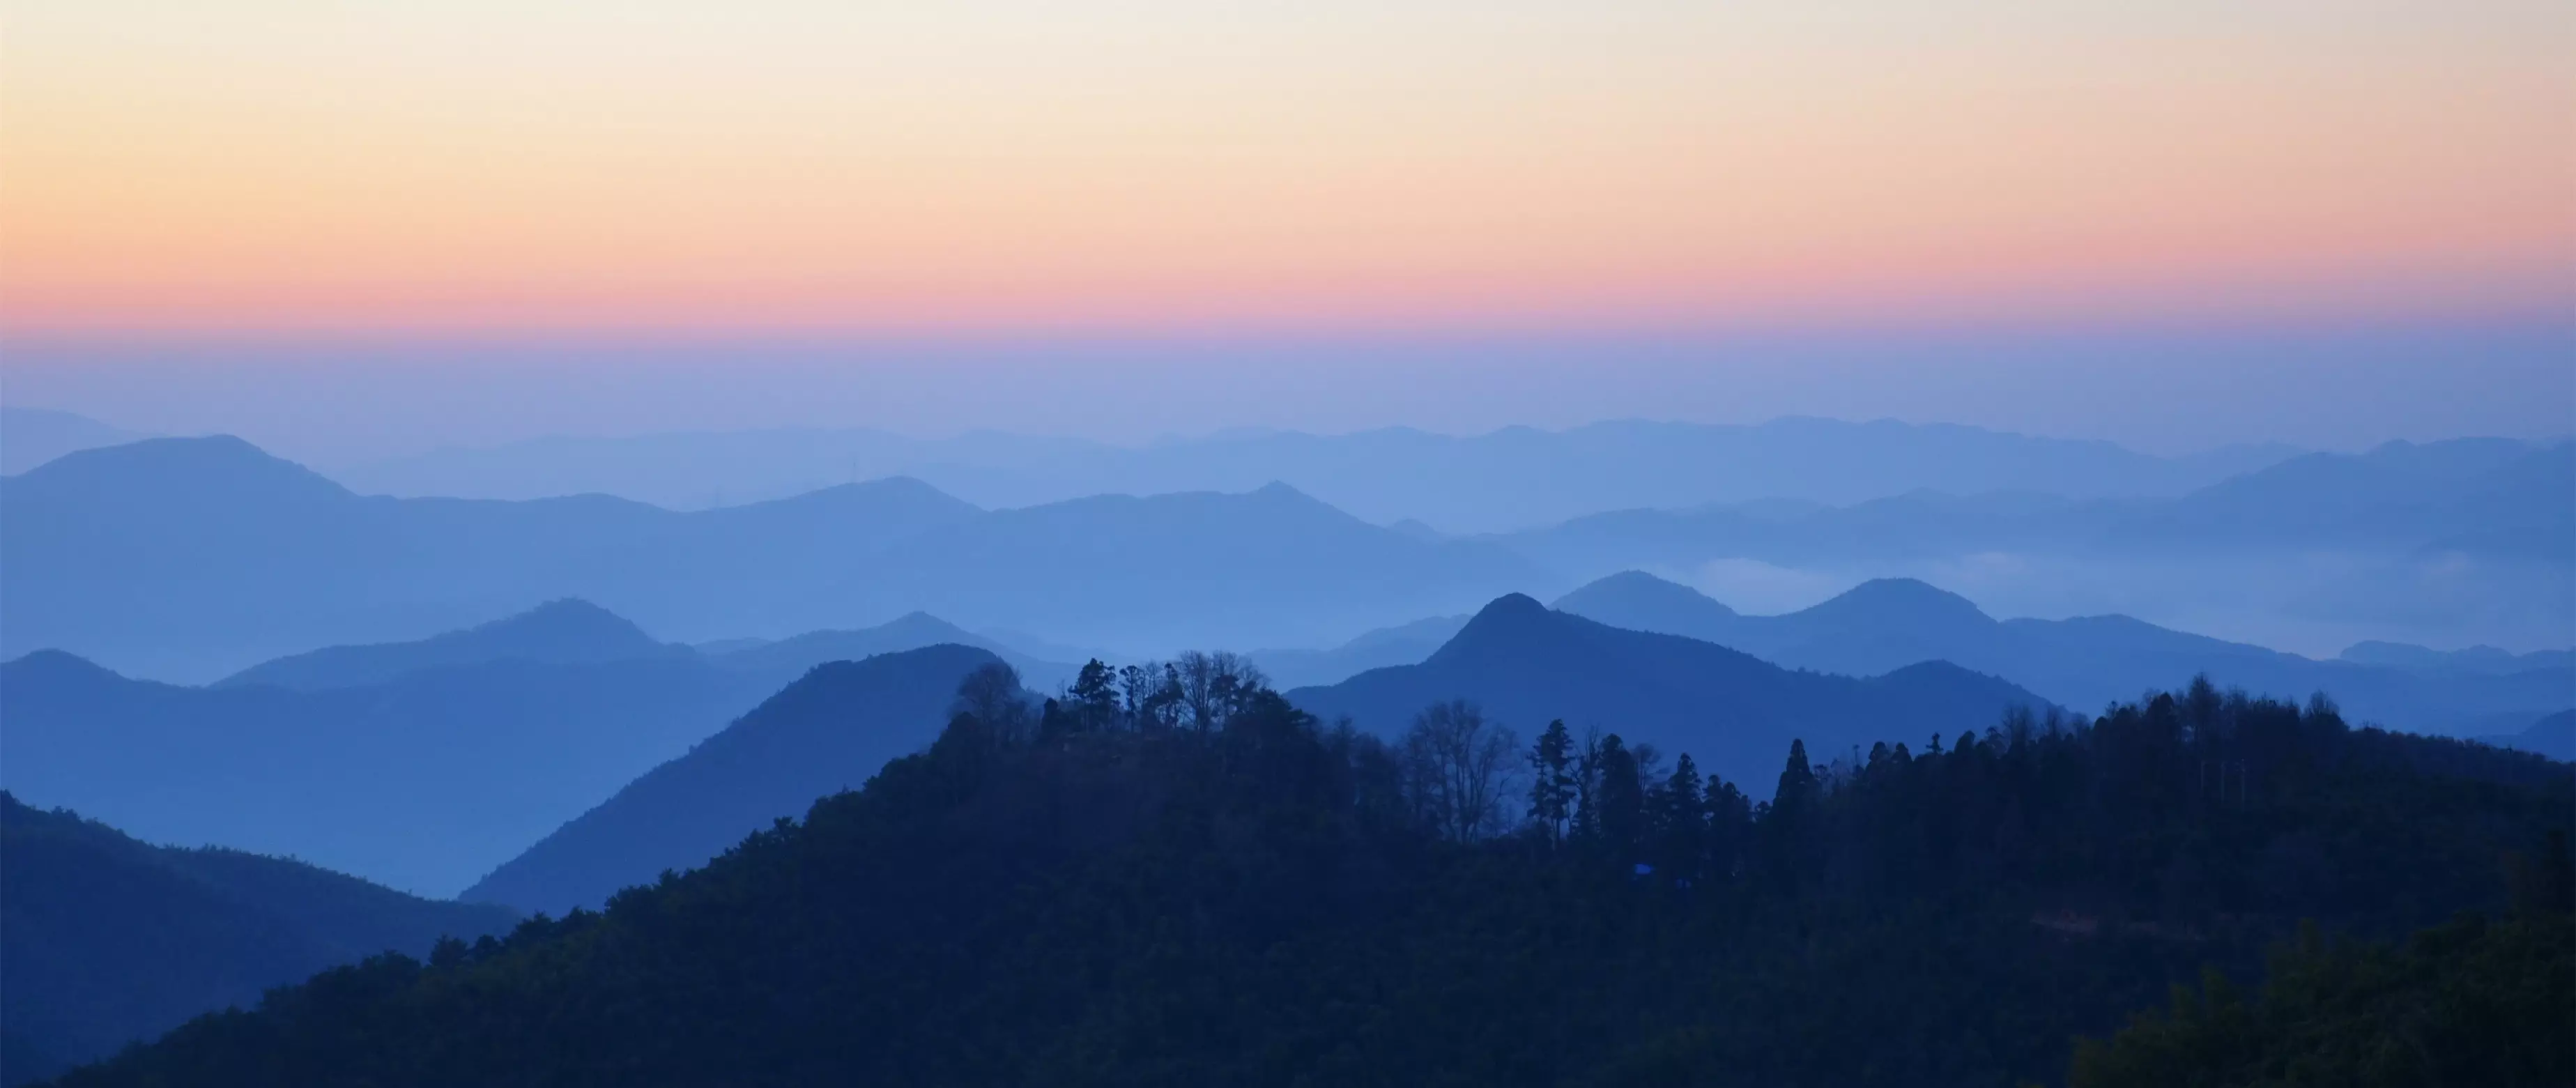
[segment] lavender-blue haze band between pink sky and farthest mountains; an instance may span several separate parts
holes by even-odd
[[[0,402],[350,464],[554,436],[868,428],[1141,446],[1832,418],[2182,456],[2576,433],[2576,325],[1278,338],[41,338]],[[1007,397],[999,392],[1010,392]]]

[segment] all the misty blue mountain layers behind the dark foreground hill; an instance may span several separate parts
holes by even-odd
[[[2473,737],[2486,748],[2424,740],[2421,753],[2519,776],[2545,763],[2491,748],[2576,750],[2571,443],[2151,459],[1824,420],[1141,451],[876,436],[884,464],[920,472],[654,505],[366,495],[384,485],[229,436],[36,423],[13,449],[57,451],[0,477],[0,892],[8,957],[49,964],[31,975],[44,998],[80,1008],[46,1021],[10,1005],[13,1067],[95,1057],[376,949],[420,954],[433,931],[649,902],[621,895],[639,884],[703,889],[708,871],[783,843],[781,820],[858,804],[845,792],[889,766],[909,766],[904,797],[943,797],[940,776],[1007,748],[1030,768],[1061,755],[1084,771],[1033,771],[1025,792],[979,802],[958,828],[969,838],[1030,828],[1005,838],[1087,843],[1092,830],[1056,820],[1066,812],[1126,812],[1110,820],[1126,828],[1170,799],[1133,784],[1177,781],[1180,763],[1123,763],[1131,743],[1157,750],[1149,732],[1172,753],[1208,745],[1218,768],[1329,753],[1347,773],[1401,779],[1412,763],[1386,743],[1445,701],[1479,706],[1515,745],[1553,719],[1577,737],[1618,732],[1638,781],[1667,781],[1690,753],[1705,797],[1723,789],[1747,820],[1775,789],[1806,789],[1780,786],[1808,781],[1798,768],[1850,781],[1878,743],[1891,755],[1873,773],[1901,773],[1888,771],[1906,761],[1899,743],[1922,748],[1924,768],[2032,737],[2094,745],[2048,722],[2130,699],[2143,701],[2099,722],[2251,714],[2342,745],[2349,719]],[[531,490],[680,487],[698,456],[737,456],[726,443],[752,443],[734,469],[757,469],[760,449],[786,467],[860,441],[801,436],[801,459],[760,446],[786,438],[474,456]],[[510,467],[536,451],[562,464]],[[461,472],[451,461],[415,469]],[[2125,596],[2084,608],[2102,593]],[[2014,601],[2056,601],[2043,611],[2056,619],[1996,619],[2040,611]],[[2221,601],[2236,611],[2215,616],[2254,629],[2326,634],[2300,655],[2174,619]],[[1164,712],[1200,699],[1151,657],[1195,647],[1249,647],[1242,660],[1280,696],[1244,701],[1224,727],[1146,730],[1154,699]],[[1092,670],[1082,696],[1090,657],[1133,670],[1115,691]],[[945,755],[907,761],[969,706],[961,681],[997,665],[1023,709],[969,714],[963,743],[999,748],[943,740]],[[2146,696],[2195,675],[2287,701],[2326,694],[2339,712],[2210,688],[2184,709]],[[1321,730],[1293,724],[1298,712]],[[1020,722],[976,732],[994,714]],[[1072,722],[1100,714],[1123,714],[1126,740],[1069,743],[1097,732]],[[2038,732],[1989,732],[2020,714]],[[1334,732],[1345,722],[1355,732]],[[1303,745],[1321,748],[1288,755]],[[134,915],[142,900],[167,910]],[[167,993],[129,1000],[157,975],[85,910],[206,951]],[[26,933],[75,951],[46,962]]]

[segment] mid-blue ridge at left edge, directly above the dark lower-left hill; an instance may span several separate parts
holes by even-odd
[[[0,789],[157,840],[451,895],[765,691],[696,655],[487,660],[291,691],[0,665]]]

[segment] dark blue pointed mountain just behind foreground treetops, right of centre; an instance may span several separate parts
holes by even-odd
[[[1538,735],[1551,719],[1600,727],[1631,745],[1692,753],[1752,797],[1770,797],[1780,753],[1803,740],[1819,763],[1873,740],[1958,737],[2048,701],[1950,663],[1886,675],[1801,673],[1677,634],[1600,624],[1512,593],[1471,619],[1419,665],[1378,668],[1350,681],[1291,691],[1321,719],[1350,717],[1396,735],[1422,706],[1471,699],[1492,719]]]

